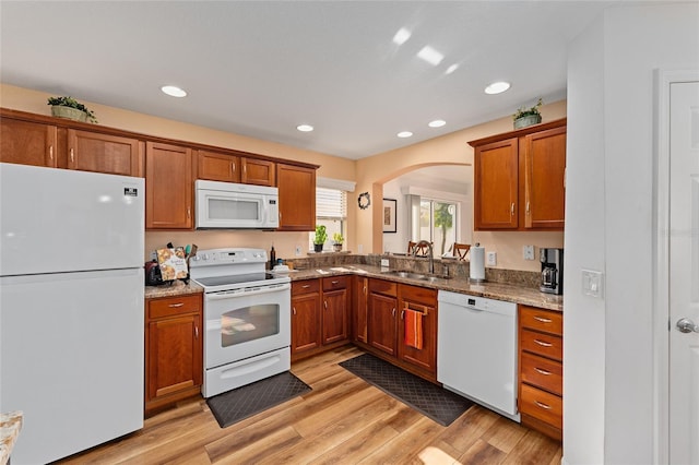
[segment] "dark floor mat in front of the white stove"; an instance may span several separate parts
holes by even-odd
[[[285,371],[206,400],[221,428],[251,417],[311,389]]]

